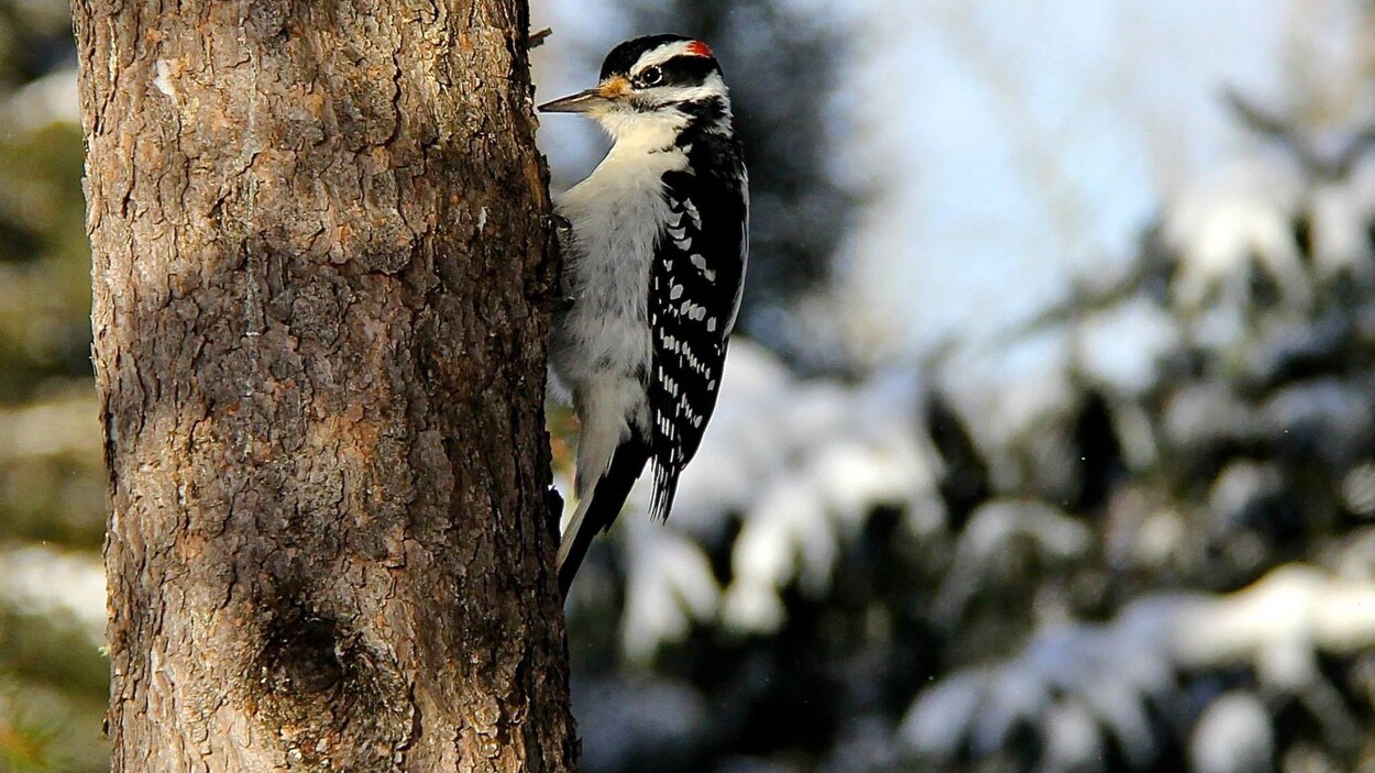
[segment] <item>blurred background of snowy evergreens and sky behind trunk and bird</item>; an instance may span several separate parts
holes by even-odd
[[[539,99],[705,39],[754,186],[674,517],[569,601],[583,770],[1375,770],[1375,3],[534,21]],[[0,0],[3,772],[104,770],[73,61]],[[605,149],[540,142],[556,191]]]

